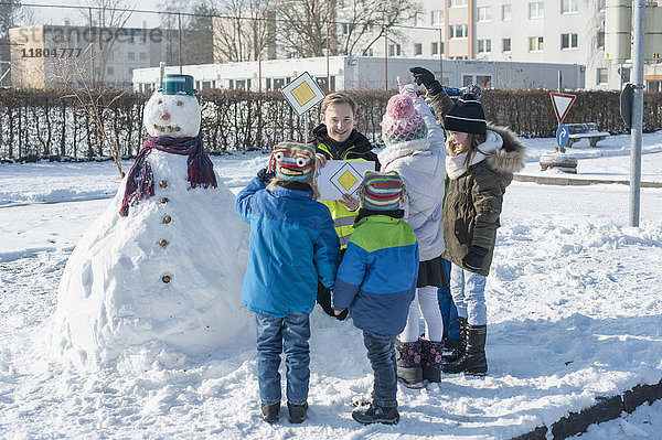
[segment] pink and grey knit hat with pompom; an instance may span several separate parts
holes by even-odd
[[[427,139],[427,127],[410,97],[395,95],[388,99],[386,115],[382,118],[382,139],[387,147]]]

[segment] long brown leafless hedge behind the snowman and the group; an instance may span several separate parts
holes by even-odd
[[[395,93],[395,92],[393,92]],[[356,128],[380,143],[380,121],[393,93],[352,92],[357,104]],[[619,114],[618,92],[574,92],[577,95],[564,122],[597,122],[601,131],[627,132]],[[95,158],[111,155],[102,141],[90,103],[97,103],[104,129],[121,155],[135,155],[146,135],[142,109],[148,95],[105,90],[81,99],[63,90],[0,90],[0,159]],[[305,120],[275,93],[210,89],[200,94],[201,133],[212,153],[268,149],[284,140],[303,140]],[[549,92],[485,90],[488,119],[509,126],[520,136],[553,137],[557,121]],[[319,108],[319,106],[318,106]],[[643,130],[662,128],[662,93],[644,94]],[[310,112],[309,129],[320,122]]]

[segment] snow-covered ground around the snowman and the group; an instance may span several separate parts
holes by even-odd
[[[555,175],[537,165],[554,139],[523,141],[523,173]],[[629,142],[575,144],[577,178],[628,180]],[[642,180],[662,182],[662,132],[643,136],[643,153]],[[266,160],[213,158],[235,193]],[[0,165],[1,439],[509,439],[662,378],[662,189],[642,189],[632,228],[626,185],[522,182],[505,194],[488,278],[489,375],[401,387],[396,426],[351,419],[371,368],[351,321],[321,310],[312,315],[311,407],[301,426],[285,409],[278,423],[261,421],[254,344],[152,363],[136,354],[79,372],[46,354],[44,333],[67,259],[118,184],[109,162]],[[637,437],[662,439],[661,401],[580,438]]]

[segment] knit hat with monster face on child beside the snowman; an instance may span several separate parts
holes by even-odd
[[[314,175],[314,147],[286,140],[274,146],[269,171],[277,178],[312,181]]]

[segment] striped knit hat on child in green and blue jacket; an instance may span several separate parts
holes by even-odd
[[[391,211],[399,208],[405,196],[405,184],[397,171],[385,173],[366,171],[361,182],[361,205],[366,210]]]

